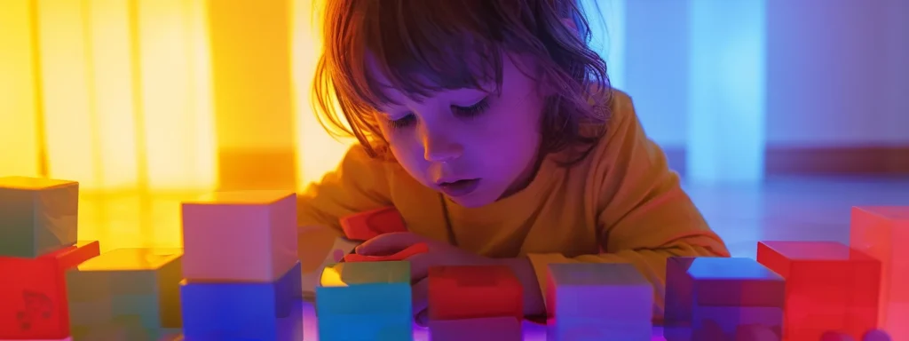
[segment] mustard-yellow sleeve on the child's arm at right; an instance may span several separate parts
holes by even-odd
[[[604,145],[591,155],[600,158],[590,176],[598,191],[595,209],[601,253],[528,257],[544,293],[548,264],[631,263],[654,285],[654,318],[660,320],[667,258],[729,256],[729,251],[684,193],[662,149],[644,134],[631,99],[619,94],[614,101]]]

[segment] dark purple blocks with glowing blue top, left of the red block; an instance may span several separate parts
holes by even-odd
[[[667,341],[734,340],[744,326],[779,339],[785,280],[751,258],[670,257],[666,262]]]

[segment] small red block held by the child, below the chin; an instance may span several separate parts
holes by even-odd
[[[350,240],[369,240],[386,233],[407,231],[404,218],[395,206],[345,216],[341,218],[341,229]]]

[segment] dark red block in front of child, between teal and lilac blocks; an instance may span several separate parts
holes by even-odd
[[[508,266],[429,268],[429,318],[524,319],[524,288]]]

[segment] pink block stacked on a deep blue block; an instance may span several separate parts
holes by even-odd
[[[183,203],[187,340],[300,340],[296,196],[217,192]]]

